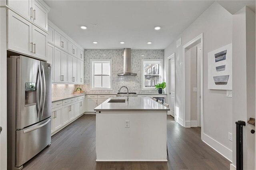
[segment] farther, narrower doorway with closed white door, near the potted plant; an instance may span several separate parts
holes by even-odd
[[[176,121],[176,112],[175,112],[175,53],[168,57],[168,89],[169,89],[169,101],[170,101],[170,115],[174,117]]]

